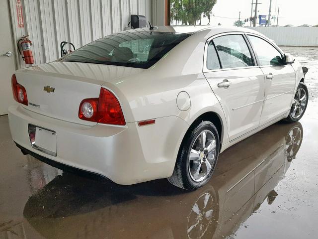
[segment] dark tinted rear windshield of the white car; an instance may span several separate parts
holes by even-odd
[[[172,32],[120,32],[93,41],[61,61],[149,68],[189,36]]]

